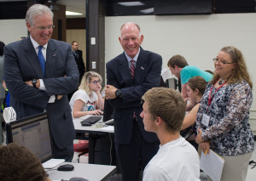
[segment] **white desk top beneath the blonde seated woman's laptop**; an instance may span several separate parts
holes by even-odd
[[[83,116],[80,118],[74,118],[73,119],[73,126],[76,130],[77,133],[114,133],[113,128],[112,129],[108,129],[108,130],[104,130],[101,128],[94,128],[94,127],[83,127],[81,126],[81,121],[83,121],[84,119],[86,119],[89,116]],[[102,120],[100,120],[99,122],[102,122]],[[112,126],[113,127],[113,126]],[[107,127],[106,127],[107,128]]]

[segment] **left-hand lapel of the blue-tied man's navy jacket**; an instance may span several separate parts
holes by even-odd
[[[38,60],[38,55],[36,53],[35,48],[32,45],[30,37],[26,37],[25,51],[26,59],[29,62],[29,64],[32,65],[35,74],[38,76],[38,78],[44,78],[44,74]]]

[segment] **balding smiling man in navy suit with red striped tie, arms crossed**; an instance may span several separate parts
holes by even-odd
[[[114,141],[123,180],[138,180],[139,170],[144,169],[160,144],[155,133],[144,130],[139,115],[143,94],[160,85],[162,58],[140,47],[143,35],[135,23],[122,25],[119,42],[125,51],[106,65],[105,93],[113,106]]]

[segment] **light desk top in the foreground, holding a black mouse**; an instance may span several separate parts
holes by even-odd
[[[61,165],[67,164],[67,162],[61,163]],[[73,171],[47,171],[49,178],[52,180],[70,179],[70,178],[86,178],[90,181],[107,180],[113,173],[116,172],[115,166],[103,166],[85,163],[73,163]],[[59,166],[57,166],[59,167]],[[53,168],[56,169],[57,167]]]

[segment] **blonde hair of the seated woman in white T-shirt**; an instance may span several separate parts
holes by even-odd
[[[84,90],[89,96],[91,95],[92,91],[89,88],[89,83],[92,80],[92,77],[99,78],[100,83],[102,83],[102,76],[95,71],[88,71],[84,74],[82,81],[79,85],[79,90]]]

